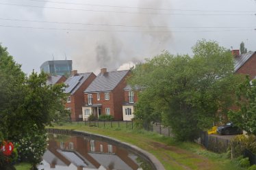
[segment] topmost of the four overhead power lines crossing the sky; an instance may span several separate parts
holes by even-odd
[[[120,5],[101,5],[101,4],[91,4],[91,3],[72,3],[72,2],[62,2],[62,1],[44,1],[44,0],[28,0],[44,3],[59,3],[68,5],[84,5],[84,6],[96,6],[96,7],[110,7],[110,8],[127,8],[127,9],[137,9],[137,10],[166,10],[166,11],[181,11],[181,12],[236,12],[236,13],[248,13],[256,11],[225,11],[225,10],[181,10],[181,9],[169,9],[169,8],[145,8],[145,7],[132,7],[132,6],[120,6]]]

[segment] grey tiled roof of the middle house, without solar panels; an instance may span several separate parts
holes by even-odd
[[[99,73],[84,92],[112,91],[128,72],[129,70]]]

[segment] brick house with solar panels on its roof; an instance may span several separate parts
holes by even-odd
[[[70,94],[65,103],[65,108],[71,111],[71,120],[79,121],[82,119],[81,107],[84,104],[84,90],[96,78],[93,72],[79,73],[77,70],[71,72],[71,76],[65,81],[65,93]]]

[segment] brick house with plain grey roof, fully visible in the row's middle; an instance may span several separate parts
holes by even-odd
[[[115,120],[123,120],[123,101],[125,100],[124,88],[129,70],[101,72],[89,87],[84,91],[83,120],[90,115],[112,115]]]

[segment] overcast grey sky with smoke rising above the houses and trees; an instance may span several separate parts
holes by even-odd
[[[25,73],[53,58],[97,73],[202,38],[256,51],[255,14],[255,0],[0,0],[0,42]]]

